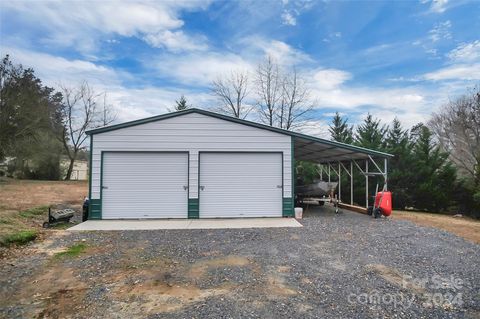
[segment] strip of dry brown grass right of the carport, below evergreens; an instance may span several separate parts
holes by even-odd
[[[480,244],[480,221],[476,219],[407,211],[394,211],[392,218],[409,220],[418,225],[443,229]]]

